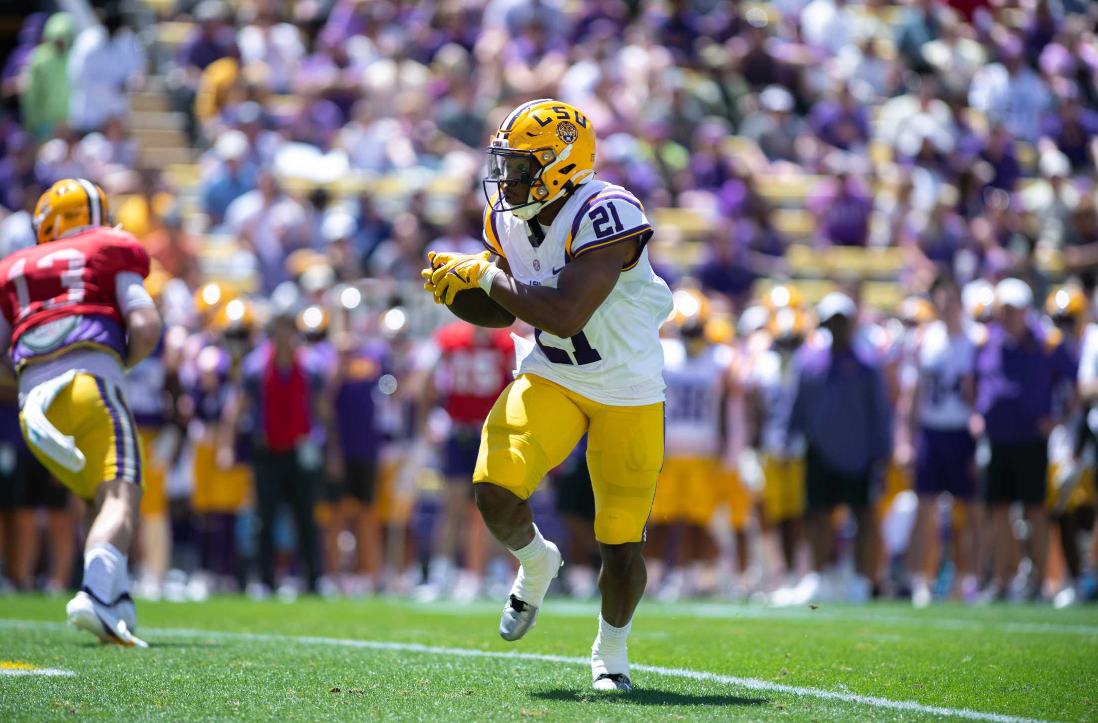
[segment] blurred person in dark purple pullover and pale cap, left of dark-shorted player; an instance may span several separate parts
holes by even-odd
[[[816,314],[831,342],[805,344],[794,358],[798,382],[788,422],[788,439],[803,434],[808,444],[805,523],[813,573],[802,578],[788,602],[808,602],[818,594],[819,573],[831,561],[831,512],[838,505],[849,505],[858,520],[858,574],[847,597],[865,601],[872,594],[877,550],[872,489],[892,454],[892,409],[879,368],[854,343],[854,302],[832,292]]]

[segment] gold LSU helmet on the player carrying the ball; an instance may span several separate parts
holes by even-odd
[[[594,166],[595,129],[587,116],[550,98],[530,101],[508,113],[492,137],[484,196],[493,211],[529,221],[594,178]],[[528,187],[526,199],[508,200],[508,185]]]

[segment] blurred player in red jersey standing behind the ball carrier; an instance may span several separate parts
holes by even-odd
[[[469,479],[477,466],[484,419],[514,376],[515,342],[507,329],[456,321],[436,332],[435,347],[438,360],[434,386],[438,406],[449,417],[450,431],[442,462],[446,507],[441,529],[435,538],[427,586],[421,597],[429,599],[442,590],[453,590],[455,597],[468,599],[479,594],[483,583],[489,543]],[[462,529],[468,534],[461,534]],[[455,580],[459,535],[466,540],[468,573]]]

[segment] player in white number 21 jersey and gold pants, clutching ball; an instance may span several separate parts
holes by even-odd
[[[594,178],[595,131],[542,99],[512,111],[488,148],[484,244],[429,253],[425,287],[451,304],[483,290],[535,328],[516,339],[517,377],[481,434],[473,483],[492,533],[520,562],[500,634],[526,634],[561,564],[528,504],[587,433],[602,614],[591,653],[596,690],[631,690],[626,637],[645,590],[645,523],[663,464],[663,349],[671,291],[652,271],[652,227],[625,189]],[[494,259],[494,260],[493,260]]]

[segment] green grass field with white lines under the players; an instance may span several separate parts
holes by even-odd
[[[593,603],[549,599],[508,644],[488,603],[145,602],[144,651],[64,607],[0,598],[0,721],[1098,721],[1094,607],[645,602],[624,694],[591,690]]]

